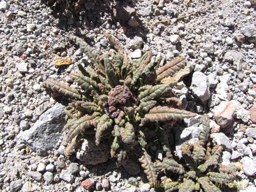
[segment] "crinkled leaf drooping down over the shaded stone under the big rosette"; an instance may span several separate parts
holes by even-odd
[[[95,134],[95,143],[98,145],[100,142],[100,137],[101,134],[106,131],[113,123],[113,120],[110,119],[110,117],[106,114],[102,115],[98,120],[97,120],[97,130]]]

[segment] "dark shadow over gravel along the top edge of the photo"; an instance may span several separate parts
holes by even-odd
[[[103,31],[117,31],[123,28],[121,33],[127,37],[136,35],[146,39],[148,28],[139,21],[134,8],[136,1],[116,1],[113,4],[114,2],[109,0],[82,0],[80,5],[76,4],[78,0],[69,2],[67,4],[66,1],[41,0],[41,4],[51,8],[53,16],[58,20],[57,26],[61,30],[81,35],[87,30],[103,34]],[[134,23],[128,25],[130,20]],[[131,25],[138,26],[131,27]]]

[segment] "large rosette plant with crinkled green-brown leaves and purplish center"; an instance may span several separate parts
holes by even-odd
[[[54,79],[43,83],[53,92],[72,98],[65,110],[68,122],[63,130],[69,130],[67,141],[73,141],[65,154],[74,152],[77,138],[91,135],[97,145],[102,140],[110,143],[110,156],[117,158],[118,165],[129,154],[138,156],[148,181],[156,182],[156,170],[147,153],[147,135],[161,137],[161,123],[196,116],[182,110],[172,94],[176,83],[190,72],[189,67],[183,56],[160,67],[162,58],[152,61],[151,51],[140,59],[128,60],[113,37],[107,36],[118,52],[103,56],[81,38],[70,36],[90,59],[87,67],[78,64],[79,72],[69,74],[76,89]]]

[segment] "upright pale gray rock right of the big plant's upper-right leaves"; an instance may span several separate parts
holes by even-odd
[[[202,72],[196,71],[193,74],[190,89],[202,102],[206,102],[210,97],[208,78]]]

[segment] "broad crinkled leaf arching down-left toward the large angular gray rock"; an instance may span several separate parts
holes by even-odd
[[[80,119],[72,119],[63,127],[63,130],[69,129],[67,141],[73,139],[76,135],[83,133],[95,124],[96,118],[93,116],[83,116]]]

